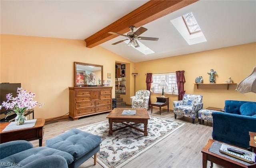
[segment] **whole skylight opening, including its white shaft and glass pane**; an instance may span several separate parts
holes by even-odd
[[[185,23],[185,20],[188,20],[188,23]],[[198,44],[206,41],[204,34],[196,22],[192,12],[171,20],[171,22],[186,40],[188,45]],[[191,30],[188,30],[188,27],[190,27],[189,29]]]

